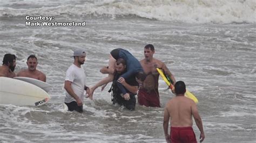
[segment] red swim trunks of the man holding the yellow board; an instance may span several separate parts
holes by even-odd
[[[158,89],[151,90],[150,92],[147,92],[145,89],[139,89],[138,103],[147,107],[160,107]]]

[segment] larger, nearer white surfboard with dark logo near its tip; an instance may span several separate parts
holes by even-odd
[[[50,96],[34,84],[0,77],[0,104],[16,106],[41,106],[49,102]]]

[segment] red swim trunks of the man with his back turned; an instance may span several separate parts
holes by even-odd
[[[196,135],[192,127],[171,127],[171,142],[197,143]]]

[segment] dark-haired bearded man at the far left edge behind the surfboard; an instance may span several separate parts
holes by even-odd
[[[15,77],[14,73],[16,66],[16,56],[14,54],[5,54],[3,59],[3,66],[0,66],[0,76]]]

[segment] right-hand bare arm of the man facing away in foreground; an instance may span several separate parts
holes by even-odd
[[[201,142],[205,138],[205,133],[203,128],[203,122],[201,120],[201,117],[199,116],[196,103],[194,102],[192,103],[191,109],[192,109],[192,115],[194,117],[194,121],[196,121],[197,127],[199,128],[199,131],[200,131],[200,142]]]

